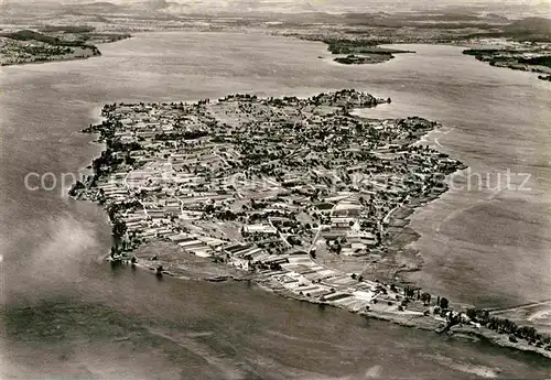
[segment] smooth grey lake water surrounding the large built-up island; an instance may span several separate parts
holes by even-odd
[[[341,66],[320,43],[148,33],[104,45],[104,56],[88,61],[2,68],[0,377],[549,376],[549,361],[538,356],[322,310],[246,283],[111,270],[101,262],[110,237],[99,208],[67,198],[60,183],[25,188],[31,172],[61,178],[90,162],[99,148],[79,131],[105,102],[363,89],[392,98],[371,116],[441,121],[428,141],[472,173],[510,170],[517,185],[530,176],[522,189],[488,189],[484,181],[466,188],[457,177],[461,189],[417,211],[415,246],[426,264],[411,276],[435,294],[483,306],[549,297],[551,85],[457,47],[407,48],[418,53]]]

